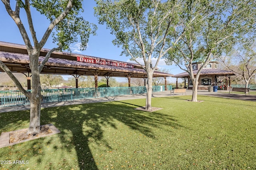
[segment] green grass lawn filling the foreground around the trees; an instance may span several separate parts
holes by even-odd
[[[61,133],[0,149],[0,170],[256,169],[256,102],[198,96],[42,109]],[[27,128],[29,111],[0,113],[0,133]],[[0,162],[1,163],[1,162]]]

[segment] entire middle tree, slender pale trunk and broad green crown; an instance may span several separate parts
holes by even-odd
[[[116,36],[114,45],[122,47],[122,54],[147,72],[146,109],[151,109],[152,75],[160,59],[172,48],[179,37],[173,36],[178,23],[182,1],[174,0],[96,0],[95,14],[100,23]],[[168,43],[169,42],[169,45]],[[157,61],[152,66],[152,57]],[[143,58],[144,63],[137,61]]]

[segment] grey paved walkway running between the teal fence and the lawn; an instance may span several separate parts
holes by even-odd
[[[228,91],[218,90],[218,92],[208,92],[208,90],[198,90],[198,95],[207,95],[207,96],[214,96],[214,97],[221,97],[221,98],[232,98],[232,99],[239,99],[239,100],[249,100],[249,101],[256,102],[256,95],[228,94],[225,92],[228,92]],[[192,95],[192,90],[187,90],[186,94]],[[174,96],[179,96],[179,95],[182,95],[182,93],[176,93]],[[170,90],[164,91],[164,92],[154,92],[152,94],[152,97],[155,97],[155,98],[170,97]],[[134,94],[134,95],[126,95],[126,96],[105,97],[105,98],[91,98],[91,99],[65,101],[65,102],[50,102],[50,103],[43,103],[42,108],[67,106],[67,105],[74,105],[74,104],[130,100],[130,99],[139,99],[139,98],[146,98],[146,94]],[[29,109],[30,109],[30,105],[0,107],[0,113],[5,113],[9,111],[18,111],[18,110],[29,110]]]

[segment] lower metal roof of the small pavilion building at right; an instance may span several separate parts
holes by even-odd
[[[194,75],[196,75],[198,70],[193,70]],[[203,68],[202,71],[200,72],[200,75],[218,75],[218,76],[226,76],[226,75],[236,75],[232,71],[227,71],[227,70],[219,70],[215,68]],[[177,78],[183,78],[189,76],[188,72],[182,72],[180,74],[176,74],[173,77]]]

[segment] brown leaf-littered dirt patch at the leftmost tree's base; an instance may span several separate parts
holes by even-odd
[[[52,133],[52,131],[47,125],[42,125],[40,133],[38,133],[36,135],[28,134],[28,129],[24,129],[22,131],[16,131],[16,132],[10,133],[9,143],[23,141],[23,140],[31,139],[34,137],[40,137],[42,135],[46,135],[46,134],[50,134],[50,133]]]

